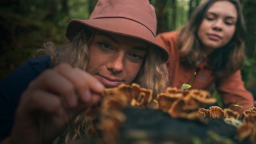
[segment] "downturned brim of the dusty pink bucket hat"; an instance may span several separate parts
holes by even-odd
[[[166,62],[169,59],[168,51],[158,43],[154,34],[147,29],[147,27],[133,20],[126,18],[74,19],[67,25],[66,37],[68,40],[70,40],[76,32],[81,31],[85,26],[145,40],[159,48],[159,57],[161,57],[163,62]]]

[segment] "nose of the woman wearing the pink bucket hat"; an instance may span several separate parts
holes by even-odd
[[[124,56],[125,54],[121,52],[113,55],[113,57],[110,58],[111,61],[109,61],[107,65],[109,71],[115,74],[121,73],[124,69]]]

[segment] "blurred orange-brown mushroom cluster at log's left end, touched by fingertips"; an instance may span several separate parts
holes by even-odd
[[[124,108],[137,106],[148,108],[152,102],[152,90],[143,89],[140,85],[122,84],[116,88],[105,89],[99,105],[89,108],[86,118],[90,121],[88,136],[102,136],[100,142],[116,143],[119,128],[126,119]]]

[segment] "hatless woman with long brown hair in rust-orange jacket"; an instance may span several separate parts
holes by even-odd
[[[171,86],[188,84],[191,89],[205,90],[215,87],[223,108],[232,108],[242,116],[244,110],[253,107],[253,96],[244,88],[240,70],[245,58],[245,36],[238,0],[204,1],[182,29],[157,36],[170,52]]]

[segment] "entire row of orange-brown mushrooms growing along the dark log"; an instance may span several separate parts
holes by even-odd
[[[256,142],[256,108],[244,111],[242,122],[239,120],[239,113],[231,109],[222,110],[218,106],[203,108],[214,103],[216,99],[205,90],[168,87],[164,93],[153,98],[152,90],[141,88],[136,83],[122,84],[116,88],[105,89],[100,103],[88,108],[85,113],[89,121],[86,134],[96,138],[97,143],[116,143],[120,138],[120,127],[127,119],[124,109],[135,106],[161,110],[174,119],[221,118],[237,127],[238,141]]]

